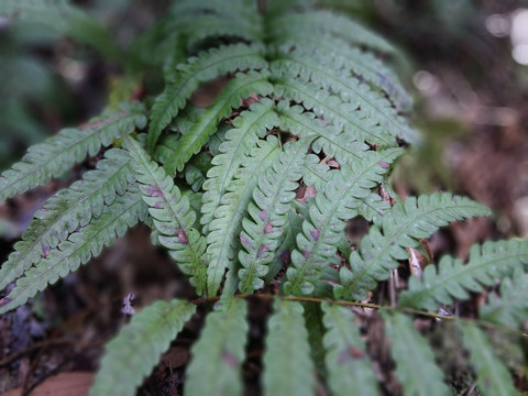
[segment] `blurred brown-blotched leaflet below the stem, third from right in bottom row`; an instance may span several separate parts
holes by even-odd
[[[345,396],[354,389],[354,395],[377,395],[376,376],[354,315],[349,308],[326,301],[321,306],[327,328],[323,338],[327,350],[324,362],[332,394]]]

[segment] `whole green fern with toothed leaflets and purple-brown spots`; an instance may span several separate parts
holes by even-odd
[[[175,1],[130,46],[141,67],[164,70],[164,89],[147,106],[123,103],[85,128],[63,130],[2,174],[6,200],[105,152],[82,180],[43,205],[14,245],[0,270],[0,288],[13,285],[0,314],[143,221],[201,300],[218,299],[193,346],[186,394],[243,393],[252,294],[274,299],[262,358],[265,394],[315,394],[317,381],[336,395],[352,387],[377,394],[383,384],[372,345],[350,307],[371,299],[419,239],[490,210],[449,193],[402,200],[387,188],[404,146],[419,139],[394,72],[402,55],[385,40],[316,1],[227,3]],[[37,7],[7,1],[0,14],[31,18]],[[226,87],[211,106],[190,103],[201,84],[219,78]],[[307,188],[315,195],[304,199]],[[351,246],[345,228],[359,217],[371,227]],[[480,320],[516,329],[528,310],[527,263],[526,241],[486,242],[466,264],[443,257],[421,278],[410,277],[381,316],[404,394],[454,391],[410,314],[433,316],[504,278]],[[92,395],[133,394],[195,308],[175,299],[136,314],[108,344]],[[488,336],[468,319],[457,326],[479,387],[515,394]]]

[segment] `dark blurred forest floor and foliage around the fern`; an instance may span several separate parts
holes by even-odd
[[[492,220],[452,224],[431,241],[433,249],[464,257],[477,241],[528,238],[528,1],[318,2],[362,21],[405,54],[398,72],[415,98],[414,124],[424,143],[399,162],[392,176],[396,191],[407,196],[451,190],[494,210]],[[169,1],[73,3],[82,13],[68,18],[76,29],[92,29],[94,42],[76,41],[72,20],[57,25],[53,14],[38,13],[31,20],[0,16],[0,170],[20,160],[29,145],[86,122],[116,100],[127,84],[116,48],[131,45],[164,14]],[[86,15],[110,30],[117,47]],[[150,73],[155,79],[160,70]],[[2,262],[40,205],[81,170],[74,168],[63,179],[0,205]],[[101,345],[124,320],[120,300],[132,290],[140,301],[141,296],[193,296],[167,257],[150,245],[142,227],[35,299],[31,312],[21,307],[13,314],[19,328],[0,326],[0,346],[4,342],[23,350],[35,340],[52,340],[40,354],[47,356],[40,358],[44,363],[24,356],[13,366],[0,352],[0,383],[7,388],[20,385],[35,367],[47,374],[94,370]],[[179,352],[162,363],[170,370],[182,367],[193,337],[178,341]],[[53,346],[53,340],[64,344]],[[68,342],[84,346],[66,353]],[[163,380],[165,372],[158,375]]]

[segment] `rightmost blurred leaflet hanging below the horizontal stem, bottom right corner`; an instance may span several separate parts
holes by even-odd
[[[486,334],[473,323],[458,324],[463,334],[464,348],[470,352],[479,388],[486,395],[518,395],[512,375],[493,353],[493,346]]]

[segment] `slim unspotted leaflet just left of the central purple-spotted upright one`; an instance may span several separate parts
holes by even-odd
[[[235,260],[235,248],[240,243],[242,219],[246,215],[260,175],[271,166],[279,155],[278,141],[270,135],[267,140],[257,141],[251,156],[244,160],[241,169],[227,188],[221,205],[215,212],[207,235],[207,253],[210,260],[207,270],[207,289],[215,296],[222,282],[226,268],[232,268]]]

